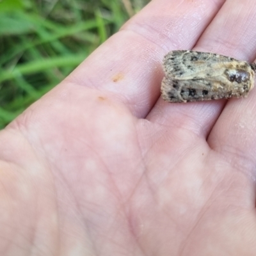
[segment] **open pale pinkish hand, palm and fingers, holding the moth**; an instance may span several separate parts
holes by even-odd
[[[255,255],[256,90],[159,97],[168,51],[254,61],[255,20],[153,0],[1,131],[1,255]]]

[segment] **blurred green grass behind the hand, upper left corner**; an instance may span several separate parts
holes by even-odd
[[[150,0],[0,0],[0,129]]]

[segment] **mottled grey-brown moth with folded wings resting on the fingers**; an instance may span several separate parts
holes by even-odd
[[[254,86],[256,64],[209,52],[171,51],[163,68],[163,99],[191,102],[246,97]]]

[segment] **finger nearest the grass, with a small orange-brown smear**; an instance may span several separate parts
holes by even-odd
[[[152,1],[67,80],[107,92],[145,117],[160,94],[164,54],[193,47],[223,1]]]

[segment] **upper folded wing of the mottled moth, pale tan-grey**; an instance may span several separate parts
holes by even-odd
[[[171,51],[164,56],[164,73],[170,79],[204,79],[223,75],[233,58],[209,52]]]

